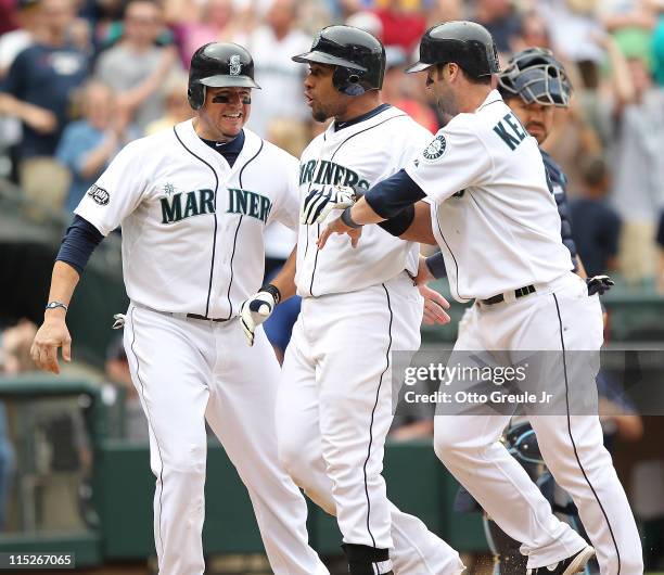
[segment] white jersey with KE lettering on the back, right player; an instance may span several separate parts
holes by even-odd
[[[433,201],[455,299],[485,299],[571,270],[537,141],[498,91],[455,116],[406,171]]]

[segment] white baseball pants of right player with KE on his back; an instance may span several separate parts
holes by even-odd
[[[475,304],[455,350],[596,352],[602,345],[602,315],[597,296],[570,273],[512,303]],[[566,354],[566,355],[565,355]],[[454,357],[454,356],[452,356]],[[576,381],[563,362],[570,386]],[[452,382],[452,388],[456,385]],[[551,514],[551,508],[499,438],[511,413],[440,414],[435,418],[437,456],[512,538],[522,541],[528,567],[546,566],[582,549],[583,539]],[[641,575],[639,534],[611,456],[603,447],[596,414],[566,412],[528,416],[539,448],[558,484],[578,507],[597,551],[602,575]]]

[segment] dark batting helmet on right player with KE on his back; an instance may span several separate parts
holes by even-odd
[[[472,78],[500,72],[494,38],[484,26],[468,21],[446,22],[429,28],[420,40],[420,60],[406,72],[422,72],[450,62],[461,66]]]

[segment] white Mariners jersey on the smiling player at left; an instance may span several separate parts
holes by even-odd
[[[132,302],[229,318],[260,286],[266,226],[297,226],[297,159],[244,133],[232,168],[192,120],[136,140],[81,200],[75,213],[102,234],[122,225]]]

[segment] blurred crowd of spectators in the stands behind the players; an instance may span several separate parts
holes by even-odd
[[[72,212],[125,143],[191,116],[188,63],[215,40],[254,55],[247,127],[297,154],[321,127],[291,56],[339,22],[383,40],[385,101],[435,131],[447,118],[401,71],[430,25],[459,18],[486,26],[502,62],[540,46],[565,63],[572,111],[545,148],[569,177],[582,258],[664,293],[664,0],[0,0],[2,176]]]

